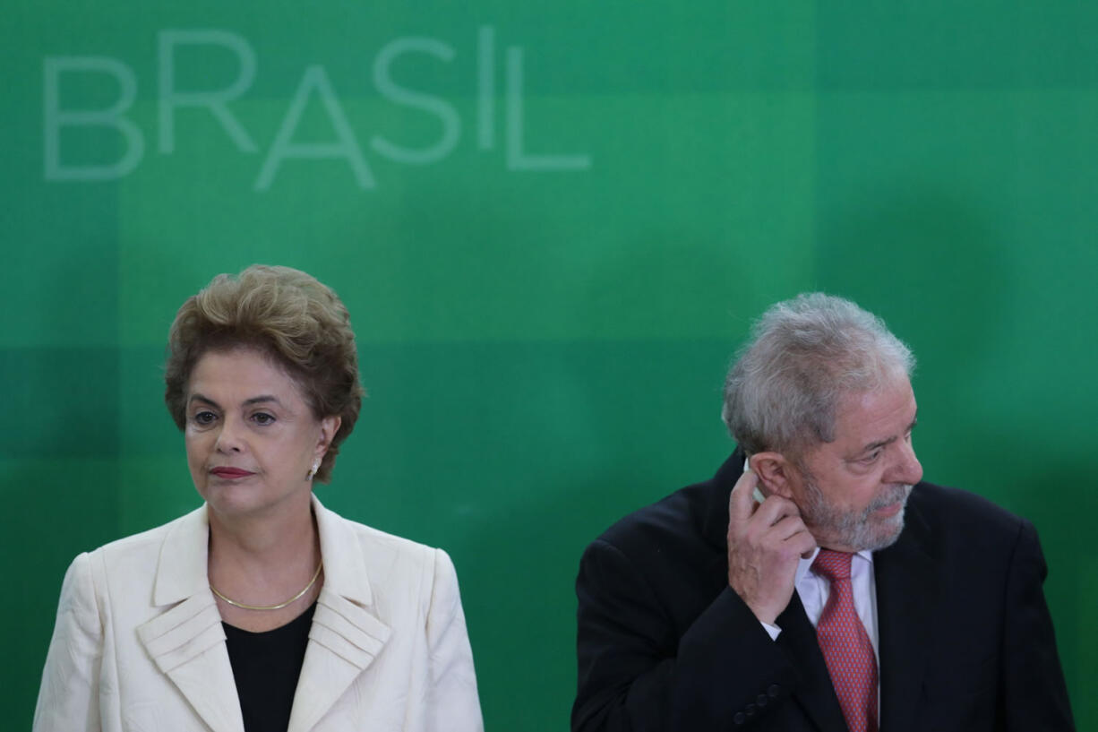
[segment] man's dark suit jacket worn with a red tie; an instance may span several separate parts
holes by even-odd
[[[728,586],[742,465],[737,451],[587,547],[573,732],[847,730],[797,594],[775,642]],[[920,483],[873,565],[882,732],[1074,729],[1032,524]]]

